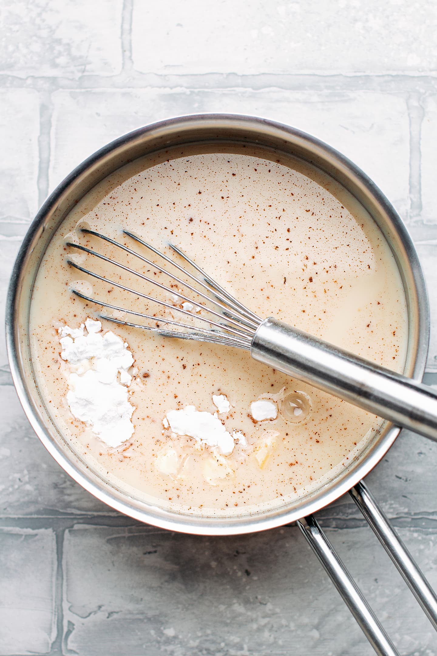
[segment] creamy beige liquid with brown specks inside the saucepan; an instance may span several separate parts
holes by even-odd
[[[67,266],[66,256],[71,256],[114,281],[159,293],[96,258],[73,253],[64,243],[77,241],[163,284],[172,281],[115,247],[81,235],[78,224],[86,222],[147,258],[150,252],[123,236],[122,227],[173,257],[166,245],[171,240],[259,316],[280,318],[396,371],[403,369],[407,338],[396,263],[359,203],[328,176],[297,160],[276,161],[275,154],[270,161],[249,148],[244,154],[231,152],[230,146],[222,150],[178,148],[145,157],[96,186],[50,242],[30,314],[41,395],[71,448],[129,495],[202,514],[248,512],[305,495],[347,466],[381,420],[256,363],[248,352],[156,337],[103,320],[104,331],[120,335],[135,359],[129,386],[134,433],[121,447],[107,447],[71,415],[66,401],[57,329],[77,328],[100,314],[98,306],[73,297],[71,287],[114,305],[165,315],[143,298]],[[181,306],[181,292],[172,287],[167,302]],[[194,314],[199,298],[192,300],[193,308],[186,309]],[[177,315],[175,310],[172,316]],[[187,406],[218,416],[213,395],[229,400],[229,411],[219,415],[225,430],[242,436],[227,456],[163,424],[168,413]],[[276,418],[251,412],[259,400],[271,403],[252,406],[255,413],[276,407]]]

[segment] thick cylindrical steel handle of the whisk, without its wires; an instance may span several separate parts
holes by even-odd
[[[437,394],[275,318],[265,319],[252,358],[437,441]]]

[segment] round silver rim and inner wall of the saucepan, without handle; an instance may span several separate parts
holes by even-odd
[[[229,134],[233,134],[233,138],[230,138]],[[203,138],[200,138],[201,135]],[[398,436],[400,429],[387,424],[377,440],[374,441],[375,443],[372,443],[364,454],[352,462],[351,467],[343,472],[343,476],[337,476],[315,493],[298,500],[293,507],[284,505],[282,508],[261,510],[255,514],[227,517],[191,516],[129,497],[88,469],[85,463],[71,449],[68,449],[66,441],[62,442],[59,434],[56,435],[54,424],[50,425],[44,411],[41,410],[41,398],[39,398],[35,379],[26,375],[25,371],[26,353],[29,353],[26,300],[28,312],[31,289],[39,261],[34,263],[35,266],[30,271],[28,264],[43,234],[47,230],[52,230],[52,232],[56,230],[62,217],[58,217],[58,223],[53,217],[56,217],[56,212],[62,207],[62,203],[73,203],[71,198],[75,188],[80,189],[82,186],[82,195],[84,195],[94,184],[98,184],[108,174],[121,167],[123,163],[120,161],[127,163],[142,154],[162,150],[162,148],[208,140],[245,142],[264,148],[269,148],[269,144],[276,144],[275,148],[278,152],[297,154],[313,163],[343,184],[365,205],[366,209],[373,208],[371,215],[383,230],[385,238],[394,252],[408,299],[409,348],[406,373],[415,380],[422,379],[427,360],[429,337],[425,280],[408,232],[385,195],[347,157],[313,136],[275,121],[234,114],[196,114],[153,123],[107,144],[88,157],[61,182],[31,223],[12,270],[6,305],[7,351],[12,379],[31,426],[67,474],[92,495],[136,520],[172,531],[199,535],[237,535],[292,522],[335,501],[366,476],[381,460]],[[155,148],[147,151],[147,144],[155,144]],[[142,148],[144,149],[143,153]],[[117,161],[118,165],[111,169],[111,165]],[[99,175],[101,175],[100,178]],[[92,176],[95,180],[90,184],[90,180],[94,179]],[[90,184],[88,188],[86,188],[87,183]],[[77,194],[76,200],[79,197],[81,197],[80,194]],[[70,209],[71,207],[72,204]],[[67,211],[64,215],[66,213]],[[51,227],[48,226],[50,220],[52,221]],[[45,235],[46,237],[47,235]]]

